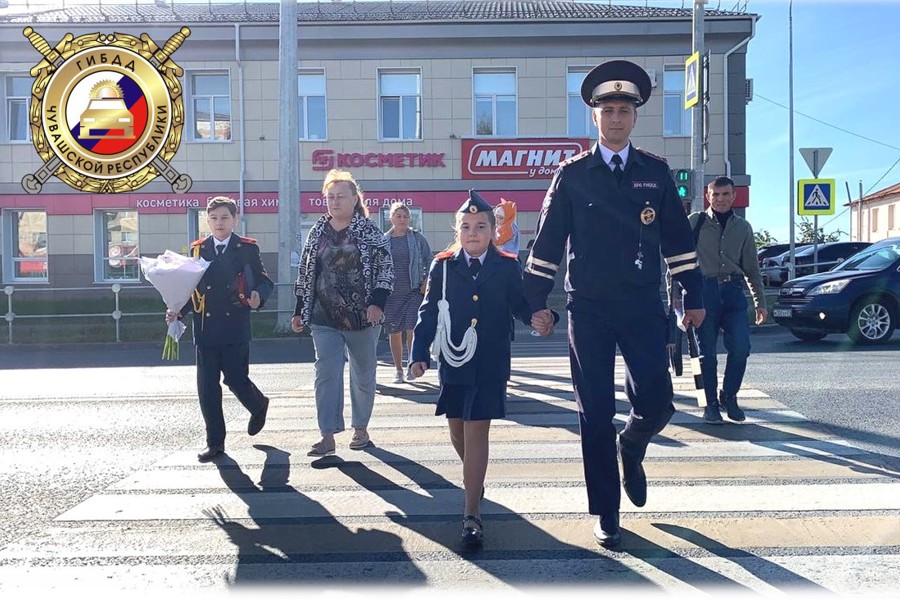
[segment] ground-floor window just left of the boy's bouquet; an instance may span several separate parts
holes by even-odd
[[[94,216],[97,281],[140,281],[137,211],[103,210]]]

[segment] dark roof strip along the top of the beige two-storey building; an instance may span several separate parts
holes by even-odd
[[[58,0],[64,6],[64,0]],[[640,0],[635,0],[638,4]],[[278,22],[278,2],[181,2],[179,0],[136,0],[130,4],[69,5],[47,7],[41,0],[8,0],[0,9],[0,23],[207,23]],[[394,0],[298,2],[300,22],[371,23],[428,21],[578,21],[689,18],[687,8],[647,5],[627,6],[573,0]],[[738,2],[736,6],[741,3]],[[746,3],[744,3],[746,6]],[[707,17],[746,16],[745,11],[707,9]]]

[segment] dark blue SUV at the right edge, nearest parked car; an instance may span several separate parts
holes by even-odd
[[[900,319],[900,239],[869,246],[825,273],[786,282],[772,316],[801,340],[846,333],[861,344],[888,341]]]

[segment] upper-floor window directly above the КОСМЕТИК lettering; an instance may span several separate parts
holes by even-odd
[[[422,76],[418,71],[378,73],[378,111],[383,140],[422,139]]]

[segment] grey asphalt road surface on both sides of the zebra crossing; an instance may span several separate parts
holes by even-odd
[[[550,338],[548,353],[565,352],[563,336]],[[851,347],[844,336],[807,343],[778,326],[757,328],[745,384],[867,450],[900,456],[896,338]],[[517,343],[526,346],[542,351],[527,332]],[[165,366],[160,350],[0,348],[0,546],[45,528],[111,481],[203,445],[191,347]],[[389,356],[384,348],[380,354]],[[311,384],[311,360],[308,338],[256,342],[251,375],[264,390],[290,391]],[[226,419],[242,418],[243,409],[226,398]]]

